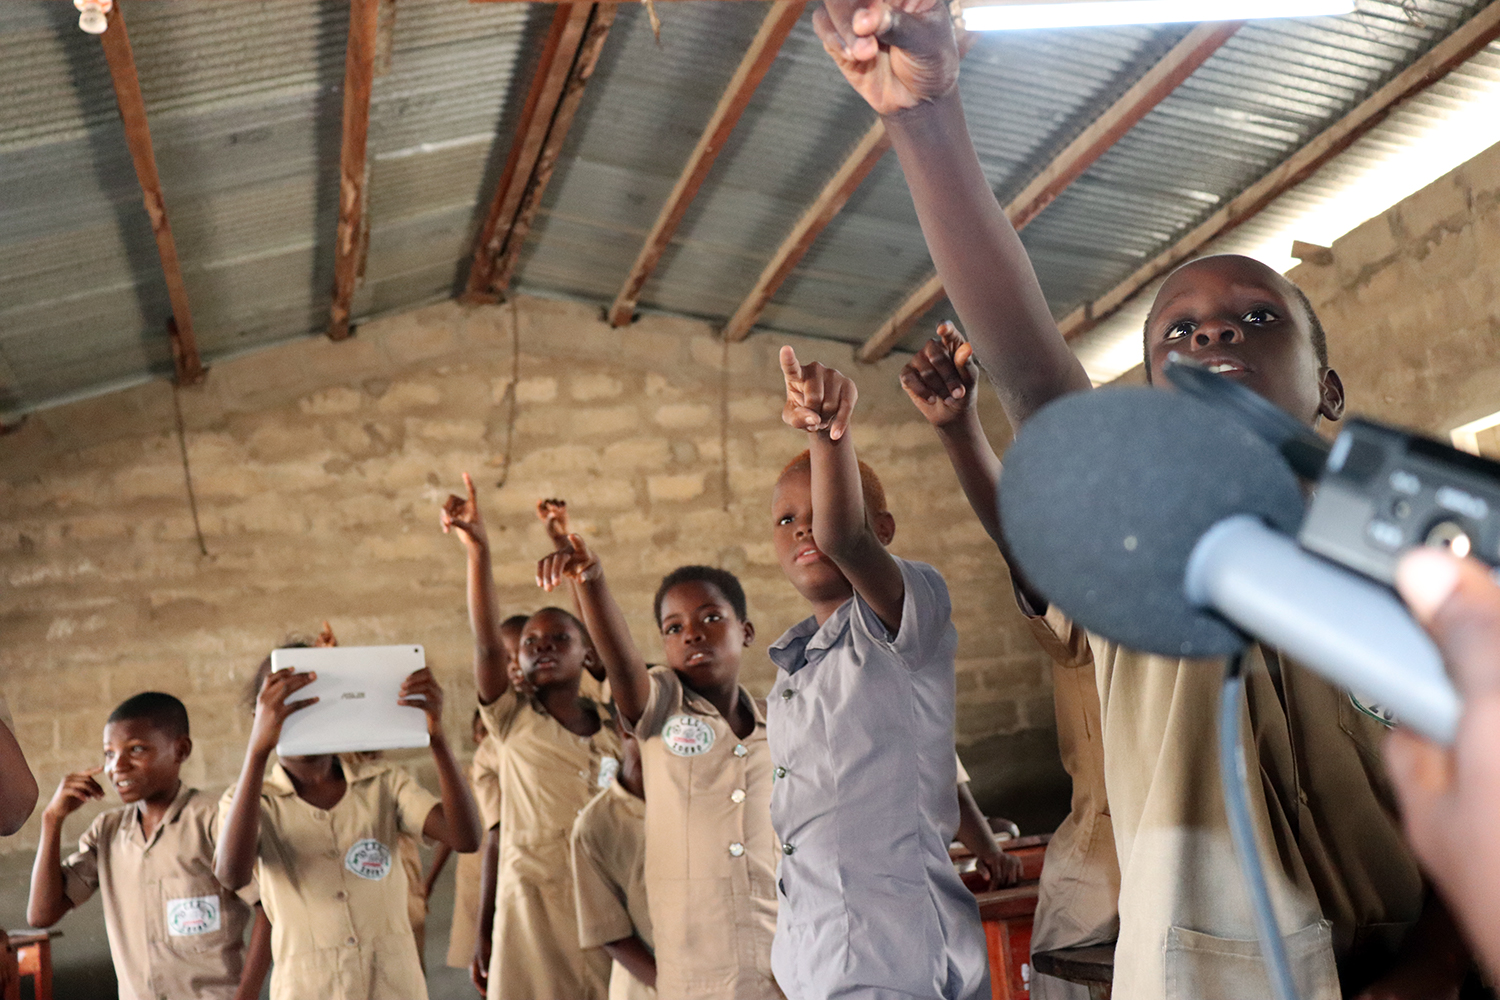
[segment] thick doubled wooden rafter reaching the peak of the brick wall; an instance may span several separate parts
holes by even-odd
[[[614,19],[614,3],[561,4],[552,15],[506,166],[474,244],[465,301],[495,301],[508,285]]]

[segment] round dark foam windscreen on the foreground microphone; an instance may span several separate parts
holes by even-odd
[[[1102,388],[1040,409],[1000,475],[1006,552],[1072,621],[1131,649],[1222,657],[1233,625],[1194,607],[1184,571],[1232,514],[1296,534],[1304,501],[1276,450],[1184,393]]]

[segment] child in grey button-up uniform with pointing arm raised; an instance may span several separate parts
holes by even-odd
[[[856,390],[782,349],[783,420],[810,451],[772,495],[782,570],[813,606],[771,648],[771,822],[782,841],[771,967],[790,1000],[990,996],[958,826],[948,588],[885,550],[896,519],[848,436]],[[814,534],[816,523],[816,534]]]

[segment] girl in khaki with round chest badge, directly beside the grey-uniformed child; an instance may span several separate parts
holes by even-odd
[[[740,684],[754,639],[740,582],[684,567],[657,591],[669,667],[646,670],[598,559],[572,535],[542,561],[564,580],[634,727],[646,790],[646,898],[662,1000],[777,1000],[771,975],[776,862],[765,706]]]

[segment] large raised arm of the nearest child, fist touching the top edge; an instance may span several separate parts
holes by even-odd
[[[1011,426],[1089,388],[990,190],[958,99],[958,46],[940,0],[826,0],[824,48],[885,120],[938,276]]]

